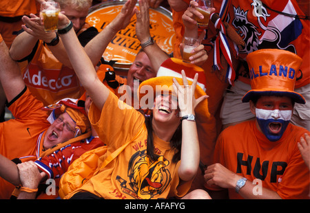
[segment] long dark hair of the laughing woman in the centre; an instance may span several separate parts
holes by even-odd
[[[145,115],[145,126],[147,128],[147,156],[152,161],[156,161],[156,155],[154,153],[154,138],[153,138],[153,113],[151,115]],[[172,157],[172,162],[176,163],[180,160],[180,150],[182,145],[182,122],[176,128],[172,139],[170,140],[172,148],[175,148],[174,157]]]

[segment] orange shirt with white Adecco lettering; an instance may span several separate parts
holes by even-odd
[[[80,98],[84,92],[74,70],[60,63],[41,40],[22,74],[32,94],[45,106],[63,98]]]

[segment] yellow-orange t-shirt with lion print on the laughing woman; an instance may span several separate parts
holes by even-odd
[[[107,153],[99,158],[98,168],[92,178],[81,188],[69,194],[87,191],[104,199],[166,199],[182,197],[192,181],[180,183],[178,163],[172,162],[174,148],[154,135],[154,147],[158,157],[151,161],[146,154],[147,130],[144,116],[128,107],[110,92],[102,111],[92,104],[90,121],[99,138],[107,144]],[[104,159],[117,148],[130,142],[110,164],[101,168]]]

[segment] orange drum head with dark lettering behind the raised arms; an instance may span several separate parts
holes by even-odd
[[[113,1],[95,5],[87,16],[87,23],[101,32],[121,12],[124,3]],[[150,8],[149,20],[150,33],[154,41],[167,54],[172,53],[175,33],[171,12],[162,7]],[[136,38],[136,15],[134,15],[130,24],[114,36],[107,49],[105,49],[103,58],[107,61],[117,60],[114,67],[127,69],[133,63],[140,48],[140,41]]]

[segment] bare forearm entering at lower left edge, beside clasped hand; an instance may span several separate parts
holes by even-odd
[[[0,155],[0,176],[14,186],[21,184],[17,165],[3,155]]]

